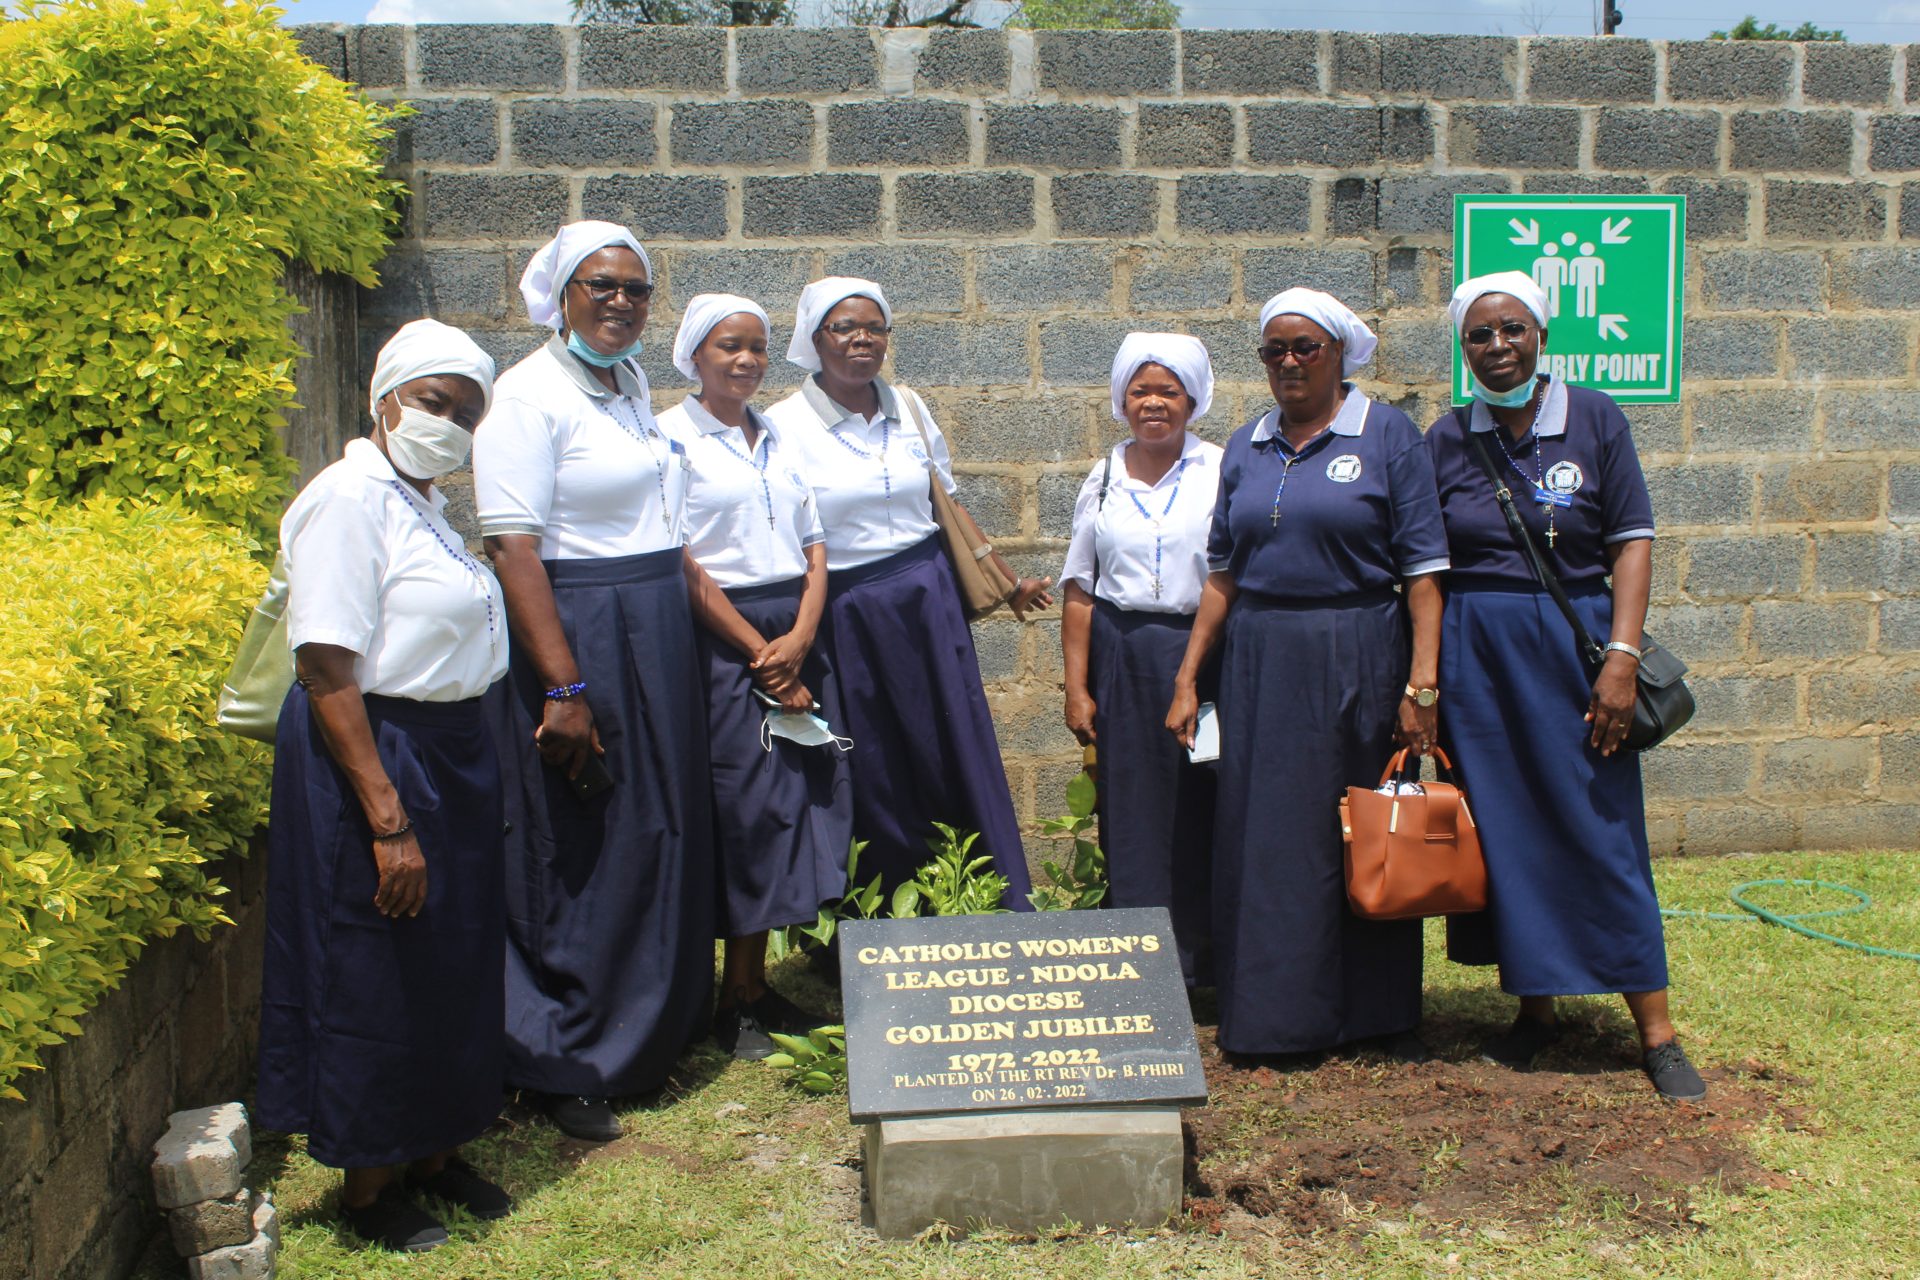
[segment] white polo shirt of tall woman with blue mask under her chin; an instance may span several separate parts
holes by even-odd
[[[559,336],[501,374],[474,432],[482,533],[532,533],[541,560],[682,543],[685,445],[655,422],[637,365],[614,365],[614,382],[618,395]]]

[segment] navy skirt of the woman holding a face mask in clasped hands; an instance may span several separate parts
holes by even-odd
[[[730,587],[733,608],[766,639],[793,629],[804,578]],[[720,852],[720,935],[810,925],[822,902],[847,892],[852,783],[839,747],[766,739],[766,704],[755,695],[747,654],[710,631],[697,637],[707,674],[712,747],[714,844]],[[839,697],[814,645],[801,666],[816,712],[841,733]],[[764,743],[764,745],[762,745]]]

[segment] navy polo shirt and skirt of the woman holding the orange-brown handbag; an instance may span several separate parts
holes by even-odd
[[[1432,464],[1404,413],[1352,386],[1298,453],[1277,418],[1227,443],[1208,545],[1238,585],[1213,835],[1219,1044],[1236,1054],[1421,1019],[1419,921],[1352,913],[1338,804],[1392,752],[1411,662],[1400,585],[1448,564]]]

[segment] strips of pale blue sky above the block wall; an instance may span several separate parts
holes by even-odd
[[[568,0],[282,0],[288,21],[566,21]],[[1697,40],[1745,13],[1795,27],[1812,17],[1860,44],[1920,40],[1920,0],[1697,0],[1682,6],[1619,0],[1620,35]],[[1592,35],[1594,0],[1352,0],[1350,4],[1261,4],[1192,0],[1183,27],[1334,27],[1344,31],[1448,31],[1465,35]]]

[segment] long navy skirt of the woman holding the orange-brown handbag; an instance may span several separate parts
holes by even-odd
[[[1340,798],[1373,787],[1394,750],[1407,662],[1394,591],[1242,591],[1227,614],[1213,829],[1225,1050],[1304,1054],[1421,1021],[1421,923],[1354,915],[1340,841]]]

